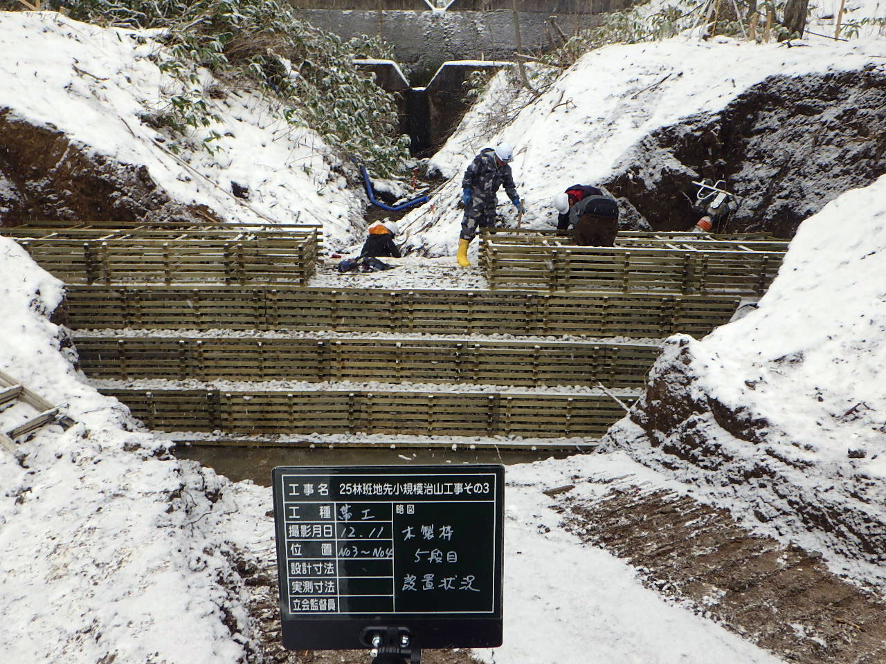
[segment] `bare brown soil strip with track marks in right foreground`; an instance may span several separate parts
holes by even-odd
[[[820,556],[750,534],[725,510],[669,491],[560,497],[565,525],[637,567],[643,583],[793,662],[882,664],[886,604]]]

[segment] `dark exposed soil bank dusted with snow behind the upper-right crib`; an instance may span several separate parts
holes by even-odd
[[[721,112],[653,132],[604,184],[652,228],[672,230],[697,219],[684,196],[695,197],[690,181],[724,179],[741,197],[727,232],[792,237],[843,191],[884,173],[886,68],[868,66],[769,77]]]

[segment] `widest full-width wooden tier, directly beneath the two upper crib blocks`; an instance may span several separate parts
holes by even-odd
[[[70,286],[69,328],[217,328],[662,337],[706,335],[737,295],[236,286]]]

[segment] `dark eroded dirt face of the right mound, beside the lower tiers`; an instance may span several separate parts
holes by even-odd
[[[804,459],[802,442],[779,444],[765,418],[711,396],[693,368],[693,348],[685,337],[665,342],[645,392],[602,438],[602,449],[706,483],[776,531],[814,533],[836,556],[882,566],[882,483],[853,469],[851,458],[835,482]]]

